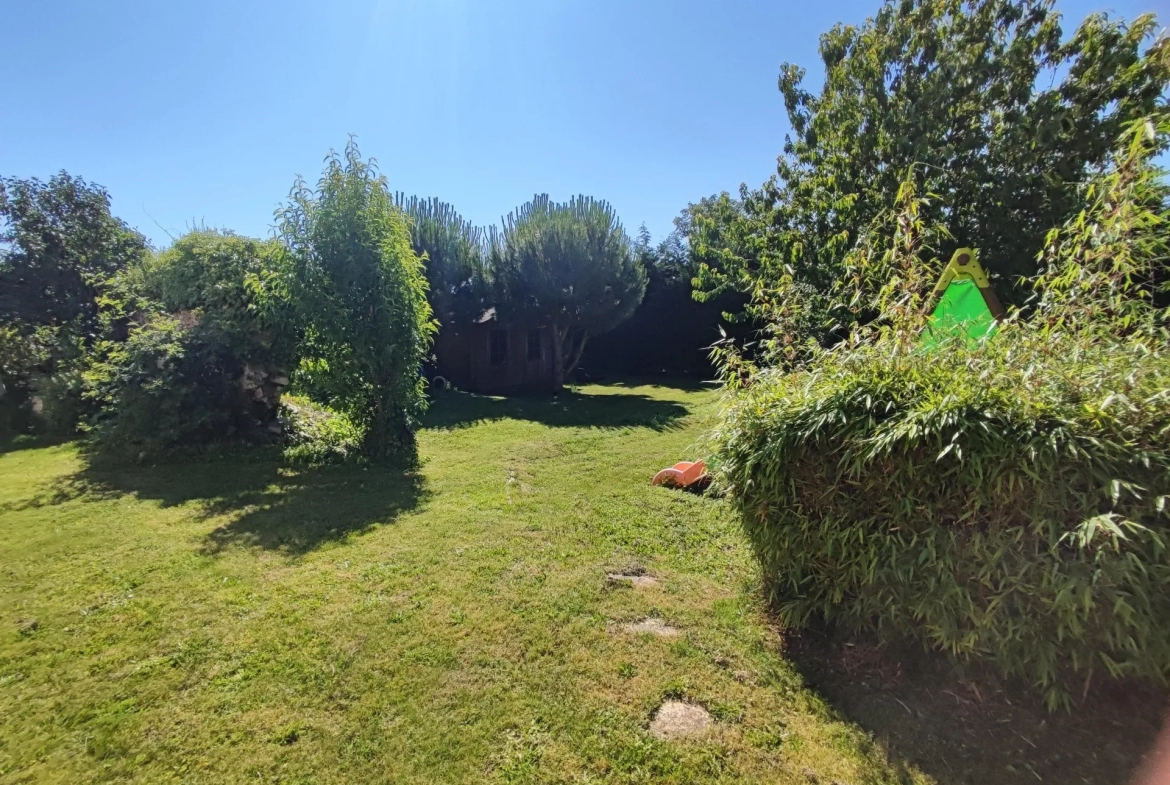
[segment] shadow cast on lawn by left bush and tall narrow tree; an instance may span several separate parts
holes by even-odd
[[[422,477],[385,466],[290,468],[263,450],[205,461],[126,466],[90,463],[60,494],[113,497],[131,494],[163,507],[197,504],[228,521],[209,532],[205,553],[230,546],[300,555],[386,525],[426,497]]]

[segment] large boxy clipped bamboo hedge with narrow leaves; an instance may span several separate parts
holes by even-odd
[[[1006,325],[762,372],[715,434],[780,618],[921,640],[1066,700],[1170,676],[1170,353]]]

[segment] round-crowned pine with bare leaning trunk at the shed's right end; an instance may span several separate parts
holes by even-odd
[[[548,194],[512,211],[491,233],[491,264],[504,308],[552,328],[553,388],[577,367],[590,336],[628,318],[646,292],[646,269],[608,202]]]

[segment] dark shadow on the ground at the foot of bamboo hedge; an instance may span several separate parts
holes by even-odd
[[[993,674],[963,674],[916,647],[826,627],[790,634],[785,654],[808,687],[940,785],[1122,785],[1166,705],[1165,690],[1112,682],[1049,714],[1033,693]]]

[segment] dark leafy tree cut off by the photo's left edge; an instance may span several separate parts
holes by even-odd
[[[103,287],[145,255],[102,186],[68,172],[0,178],[0,321],[74,325],[92,339]]]

